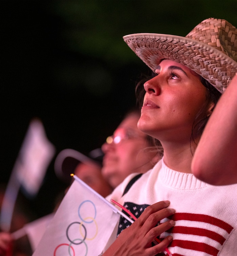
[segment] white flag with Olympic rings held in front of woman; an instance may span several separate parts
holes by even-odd
[[[74,178],[33,256],[99,255],[113,232],[117,208]]]

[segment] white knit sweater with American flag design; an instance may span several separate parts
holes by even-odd
[[[133,176],[126,178],[107,199],[126,206],[136,217],[148,205],[169,200],[169,207],[176,210],[171,217],[175,226],[169,233],[173,236],[169,246],[173,256],[237,255],[237,184],[212,186],[190,173],[168,168],[162,159],[121,197]],[[129,225],[121,218],[119,233]],[[163,233],[160,238],[167,235]],[[115,238],[113,235],[111,241]]]

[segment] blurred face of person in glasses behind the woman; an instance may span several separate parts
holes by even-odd
[[[131,110],[102,145],[102,174],[115,188],[131,173],[145,173],[159,160],[152,138],[138,130],[139,110]]]

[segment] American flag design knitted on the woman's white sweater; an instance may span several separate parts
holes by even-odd
[[[124,206],[138,218],[149,205],[125,202]],[[175,213],[171,219],[175,221],[175,226],[161,234],[160,239],[167,235],[173,236],[169,245],[173,256],[218,256],[233,230],[233,226],[228,223],[205,214]],[[117,235],[130,225],[129,221],[120,217]]]

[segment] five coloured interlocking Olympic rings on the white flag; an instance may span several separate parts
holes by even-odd
[[[86,217],[87,213],[89,213],[89,212],[94,212],[94,217],[93,218],[92,217]],[[68,246],[68,255],[69,256],[75,256],[75,250],[72,247],[72,245],[74,246],[74,245],[81,245],[81,244],[85,245],[85,249],[82,249],[82,251],[83,252],[85,251],[85,256],[87,255],[88,246],[87,246],[87,243],[85,242],[85,240],[93,240],[93,239],[95,239],[95,237],[98,234],[98,225],[95,221],[95,218],[96,218],[95,204],[90,200],[83,201],[78,207],[78,216],[81,219],[81,222],[79,222],[79,221],[71,222],[67,226],[67,229],[66,229],[66,237],[67,237],[67,240],[70,243],[61,243],[61,244],[59,244],[55,248],[55,250],[53,252],[53,256],[57,256],[56,255],[57,251],[63,250],[63,249],[60,249],[63,245]],[[95,228],[90,227],[87,230],[86,226],[88,224],[91,224],[91,223],[94,223]],[[78,225],[79,225],[79,227],[78,227]],[[91,230],[95,230],[95,232],[92,232]],[[88,234],[89,234],[89,237],[88,237]],[[80,235],[81,238],[71,239],[71,237],[73,237],[74,235]]]

